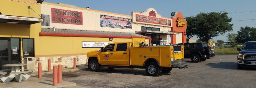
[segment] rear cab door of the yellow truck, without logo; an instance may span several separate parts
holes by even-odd
[[[129,52],[127,43],[117,43],[117,49],[114,52],[115,65],[129,65]]]

